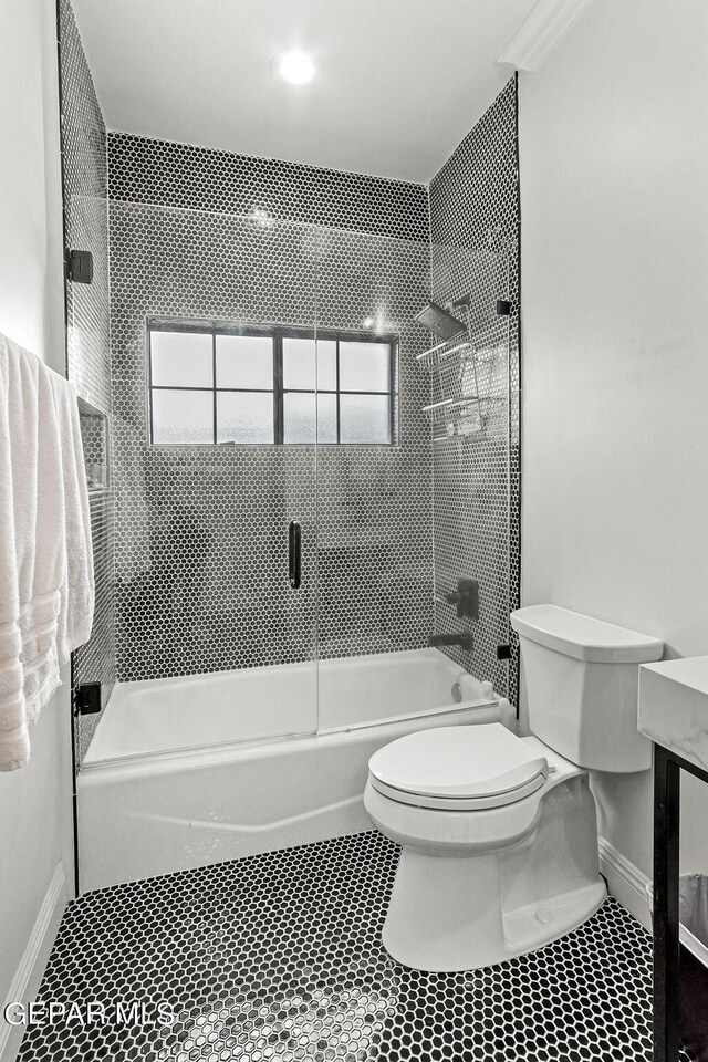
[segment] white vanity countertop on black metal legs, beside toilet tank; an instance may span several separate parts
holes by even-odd
[[[643,664],[637,720],[652,741],[708,771],[708,656]]]

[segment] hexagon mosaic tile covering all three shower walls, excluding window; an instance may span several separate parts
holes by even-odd
[[[69,0],[62,76],[70,222],[79,242],[97,239],[101,279],[105,129]],[[423,186],[110,134],[124,680],[418,647],[431,629],[460,625],[435,590],[449,590],[455,574],[476,574],[482,613],[473,654],[449,652],[507,693],[496,648],[509,637],[506,613],[518,598],[518,315],[510,322],[510,375],[490,382],[490,397],[508,393],[511,439],[498,419],[483,440],[433,452],[420,414],[429,382],[415,366],[429,336],[412,316],[430,283],[440,300],[460,284],[473,287],[470,263],[492,244],[510,259],[509,295],[518,296],[514,107],[510,82],[431,183],[433,247]],[[272,223],[260,225],[253,211],[267,211]],[[95,298],[104,289],[107,282],[72,293],[76,335],[85,340],[74,344],[73,361],[90,397],[108,409],[106,312]],[[227,456],[148,446],[148,315],[358,329],[372,311],[402,339],[399,445],[389,452],[323,448],[315,458],[306,448],[239,448]],[[98,677],[106,693],[112,498],[110,491],[92,509],[102,521],[101,623],[76,657],[77,680]],[[309,550],[296,600],[283,580],[283,529],[293,509]],[[510,678],[513,697],[516,662]],[[94,726],[80,722],[81,751]]]

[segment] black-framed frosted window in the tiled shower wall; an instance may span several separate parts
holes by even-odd
[[[156,444],[391,445],[396,341],[148,322]]]

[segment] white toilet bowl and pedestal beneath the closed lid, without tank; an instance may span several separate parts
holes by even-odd
[[[597,910],[607,891],[587,774],[558,757],[554,767],[539,794],[491,812],[412,808],[367,785],[372,821],[402,845],[383,930],[397,962],[439,974],[493,966]]]

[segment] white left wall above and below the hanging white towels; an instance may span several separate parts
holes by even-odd
[[[63,373],[53,0],[0,3],[0,331]],[[69,736],[65,685],[32,735],[29,767],[0,774],[0,1001],[60,862],[71,876]]]

